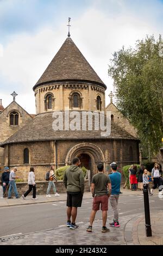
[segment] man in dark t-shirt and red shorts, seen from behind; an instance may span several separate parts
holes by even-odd
[[[97,164],[98,173],[95,174],[91,182],[91,192],[93,197],[93,205],[90,216],[90,225],[86,229],[88,232],[92,232],[92,224],[95,220],[96,212],[99,210],[101,205],[103,227],[102,232],[110,231],[106,228],[107,211],[108,211],[108,199],[111,194],[111,181],[109,176],[103,173],[104,166],[102,163]]]

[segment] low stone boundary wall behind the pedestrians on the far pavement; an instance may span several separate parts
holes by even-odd
[[[20,194],[20,196],[28,190],[27,182],[17,182],[16,186],[17,186],[17,191]],[[66,192],[65,186],[64,186],[62,181],[55,182],[55,186],[57,188],[57,192],[58,193]],[[37,194],[46,194],[47,187],[48,187],[48,181],[36,181],[36,193]],[[85,192],[90,191],[89,181],[88,180],[85,180],[84,191]],[[51,188],[50,193],[53,193],[53,188]],[[14,196],[14,193],[12,195]]]

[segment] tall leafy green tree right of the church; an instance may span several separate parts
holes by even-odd
[[[147,36],[135,48],[122,47],[110,60],[109,76],[114,80],[116,104],[129,118],[143,142],[158,152],[163,137],[163,56],[158,40]]]

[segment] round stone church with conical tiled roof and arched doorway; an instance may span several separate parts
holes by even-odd
[[[0,110],[1,166],[17,166],[27,180],[30,166],[35,167],[36,180],[43,180],[51,164],[55,168],[70,164],[78,156],[82,165],[96,173],[96,163],[105,170],[116,161],[119,166],[139,163],[139,140],[117,108],[110,102],[105,108],[106,86],[68,37],[33,87],[36,115],[28,114],[16,101]],[[2,106],[2,103],[1,103]],[[0,109],[3,108],[0,106]],[[111,111],[111,133],[101,130],[53,130],[58,111]],[[82,117],[82,115],[81,115]],[[118,118],[119,117],[119,118]],[[64,123],[64,127],[66,123]],[[94,127],[94,126],[93,126]]]

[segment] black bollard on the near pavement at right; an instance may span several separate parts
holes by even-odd
[[[143,185],[143,195],[144,195],[144,204],[145,204],[146,236],[152,236],[150,211],[149,211],[148,184]]]

